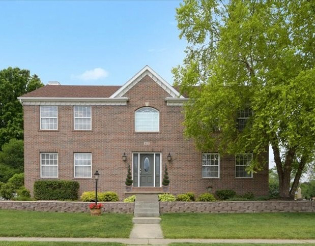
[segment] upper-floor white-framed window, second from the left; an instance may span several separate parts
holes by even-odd
[[[73,106],[74,130],[91,130],[91,106]]]

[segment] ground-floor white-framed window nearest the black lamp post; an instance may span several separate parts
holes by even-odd
[[[74,153],[74,177],[92,177],[92,153]]]

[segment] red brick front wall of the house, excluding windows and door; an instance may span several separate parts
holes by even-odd
[[[58,85],[56,85],[58,86]],[[268,164],[253,178],[235,178],[234,156],[220,156],[220,178],[202,178],[201,152],[193,140],[183,136],[184,116],[181,106],[166,106],[169,97],[149,76],[132,87],[124,97],[127,106],[92,106],[92,131],[73,130],[73,106],[58,106],[58,131],[39,130],[39,106],[24,106],[25,186],[33,190],[40,179],[40,152],[59,153],[59,178],[80,183],[80,192],[93,191],[94,178],[74,178],[73,153],[92,152],[92,173],[100,173],[99,190],[117,192],[125,197],[124,182],[127,164],[132,164],[132,152],[161,152],[162,164],[168,163],[170,192],[179,194],[206,192],[211,185],[217,189],[233,189],[239,194],[268,194]],[[134,132],[134,111],[140,107],[160,111],[159,133]],[[150,145],[144,145],[149,142]],[[127,162],[123,162],[123,153]],[[268,160],[268,152],[265,157]]]

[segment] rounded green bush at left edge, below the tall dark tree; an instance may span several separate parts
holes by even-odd
[[[0,151],[0,180],[7,182],[14,173],[23,172],[24,146],[23,140],[10,139]]]

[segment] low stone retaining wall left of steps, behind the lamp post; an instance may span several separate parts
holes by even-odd
[[[133,213],[134,203],[101,202],[104,212]],[[0,209],[46,212],[89,212],[91,202],[0,201]]]

